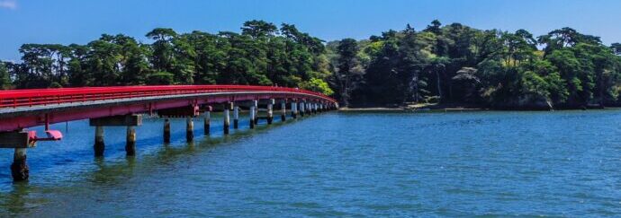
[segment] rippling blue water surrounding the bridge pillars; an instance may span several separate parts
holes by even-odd
[[[621,110],[331,112],[211,138],[195,122],[161,144],[161,119],[137,128],[68,124],[28,152],[14,184],[1,150],[0,214],[23,216],[457,216],[621,214]],[[65,124],[55,125],[65,131]]]

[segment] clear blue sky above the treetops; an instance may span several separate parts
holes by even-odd
[[[23,43],[80,43],[102,33],[141,41],[156,27],[186,31],[238,31],[261,19],[293,23],[320,39],[366,39],[407,23],[416,29],[439,19],[478,29],[535,35],[570,26],[621,41],[617,0],[0,0],[0,59],[17,60]]]

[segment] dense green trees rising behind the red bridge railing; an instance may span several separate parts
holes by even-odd
[[[0,64],[3,88],[141,84],[260,84],[332,94],[320,39],[294,25],[245,22],[241,33],[179,34],[157,28],[151,44],[103,34],[86,45],[25,44],[21,63]]]

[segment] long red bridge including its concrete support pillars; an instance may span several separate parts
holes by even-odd
[[[186,138],[193,140],[193,118],[204,114],[205,134],[209,135],[211,110],[221,109],[224,134],[229,134],[229,111],[233,110],[233,127],[238,128],[240,109],[249,111],[250,128],[266,119],[272,124],[274,105],[280,102],[281,119],[337,109],[338,102],[318,92],[293,88],[246,85],[166,85],[61,88],[0,91],[0,148],[14,148],[11,166],[15,180],[28,179],[26,148],[38,141],[62,139],[49,124],[90,119],[95,126],[94,154],[103,155],[103,126],[127,126],[128,155],[135,155],[136,133],[133,126],[141,124],[140,114],[164,117],[164,142],[170,141],[169,117],[187,118]],[[290,107],[287,108],[287,105]],[[259,106],[266,109],[259,109]],[[258,116],[259,112],[266,113]],[[26,128],[45,126],[46,137],[38,137]]]

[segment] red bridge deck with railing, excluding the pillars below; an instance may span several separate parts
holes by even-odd
[[[95,87],[0,92],[0,132],[84,118],[240,100],[297,99],[336,104],[317,92],[246,85]]]

